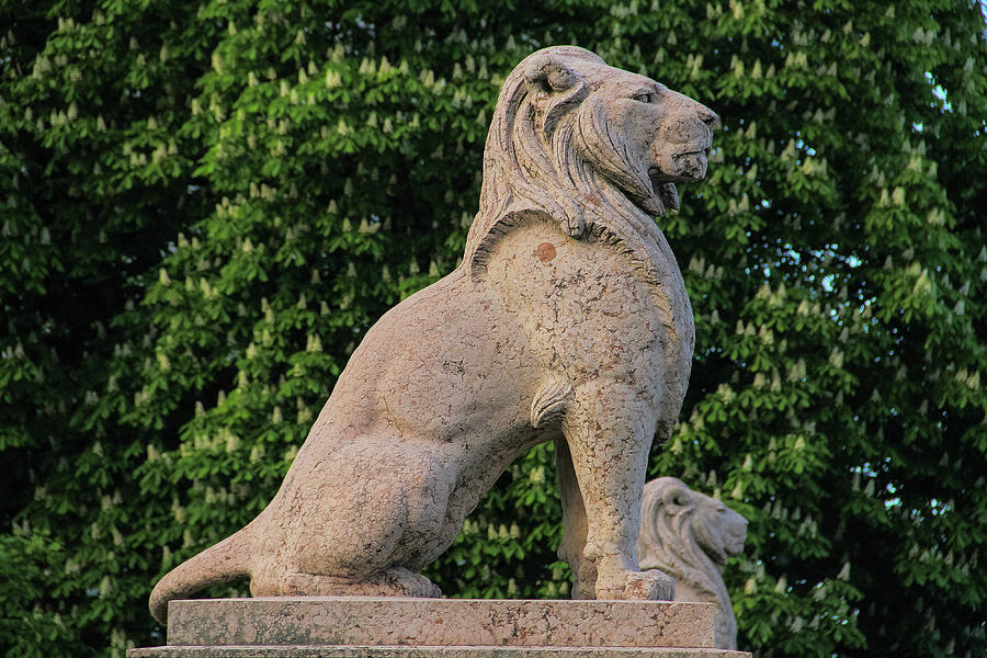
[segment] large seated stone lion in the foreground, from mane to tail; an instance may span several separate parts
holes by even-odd
[[[645,465],[693,348],[654,216],[706,172],[707,107],[577,47],[524,59],[487,138],[460,268],[386,313],[281,489],[166,575],[150,608],[250,579],[254,595],[438,597],[417,574],[519,455],[557,446],[574,593],[670,599],[635,557]]]

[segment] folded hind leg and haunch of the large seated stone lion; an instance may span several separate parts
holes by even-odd
[[[421,446],[386,436],[337,449],[295,481],[283,533],[251,580],[254,595],[438,597],[412,571],[435,546],[455,478]]]

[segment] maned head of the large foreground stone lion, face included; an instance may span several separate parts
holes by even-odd
[[[678,208],[676,182],[705,175],[717,122],[708,107],[583,48],[538,50],[501,90],[464,261],[483,268],[498,226],[532,215],[572,237],[608,234],[645,262],[656,242],[667,256],[651,217]]]

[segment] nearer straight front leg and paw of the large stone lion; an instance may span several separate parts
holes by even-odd
[[[580,386],[566,407],[563,433],[586,510],[582,554],[595,568],[597,599],[674,598],[669,576],[642,572],[637,564],[640,499],[656,426],[651,406],[616,382]]]

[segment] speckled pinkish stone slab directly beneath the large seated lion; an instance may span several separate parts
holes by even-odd
[[[669,601],[527,601],[271,597],[172,601],[171,646],[715,646],[713,605]]]

